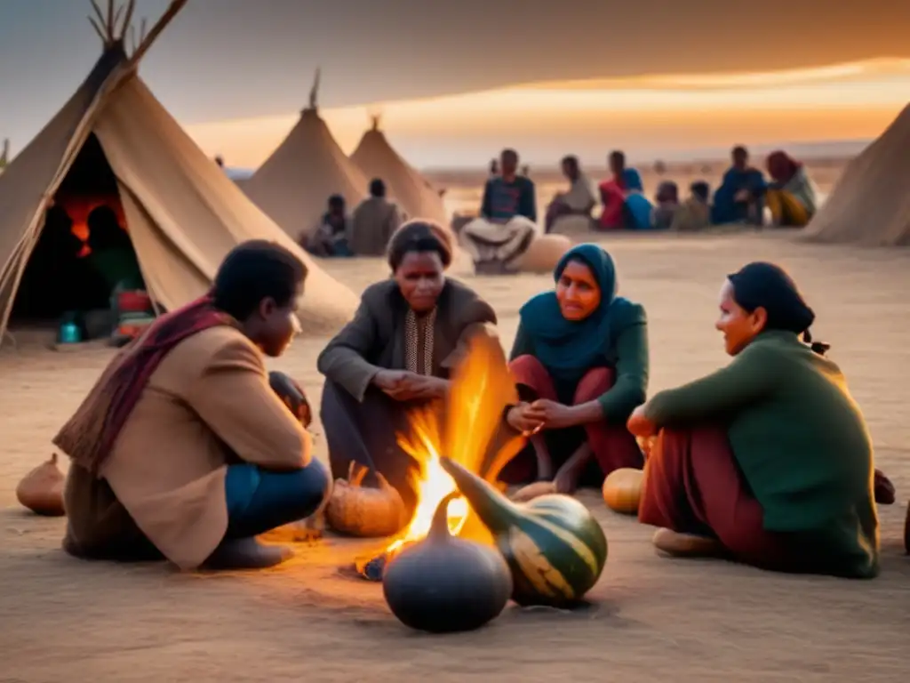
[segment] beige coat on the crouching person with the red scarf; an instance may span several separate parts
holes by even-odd
[[[269,388],[258,348],[231,327],[199,332],[152,374],[101,466],[106,496],[103,483],[70,468],[67,543],[128,542],[128,517],[110,513],[119,502],[168,559],[195,568],[227,531],[227,464],[288,471],[310,458],[309,434]],[[110,491],[116,501],[104,499]]]

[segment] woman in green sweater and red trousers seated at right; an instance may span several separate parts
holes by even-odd
[[[637,408],[657,436],[639,505],[672,555],[730,556],[784,572],[878,573],[873,447],[863,413],[794,281],[750,263],[723,282],[727,367]],[[892,500],[893,488],[892,488]]]

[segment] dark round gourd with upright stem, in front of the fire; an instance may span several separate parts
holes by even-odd
[[[480,628],[509,602],[511,574],[490,545],[452,536],[449,494],[436,508],[430,533],[407,545],[386,566],[382,594],[405,626],[430,633]]]

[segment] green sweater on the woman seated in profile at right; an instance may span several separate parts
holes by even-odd
[[[847,576],[878,571],[873,448],[844,375],[791,332],[760,334],[722,370],[660,392],[659,427],[719,421],[769,531],[803,533]],[[807,552],[809,552],[807,550]]]

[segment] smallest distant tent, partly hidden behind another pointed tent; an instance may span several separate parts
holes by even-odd
[[[379,129],[379,117],[373,117],[373,127],[363,134],[360,144],[350,158],[368,178],[382,178],[389,189],[389,199],[398,202],[410,219],[432,219],[444,227],[450,219],[440,197],[427,178],[401,158]]]

